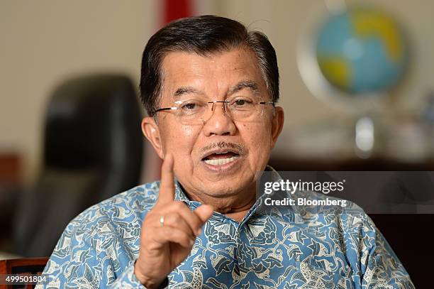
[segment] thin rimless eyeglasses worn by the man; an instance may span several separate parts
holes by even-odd
[[[214,111],[214,104],[221,103],[224,114],[233,121],[255,121],[264,113],[264,107],[274,102],[257,102],[250,97],[234,97],[222,101],[207,102],[204,99],[188,99],[174,102],[174,107],[163,107],[155,110],[174,111],[175,116],[181,124],[195,125],[205,124],[211,118]],[[211,104],[211,111],[208,106]]]

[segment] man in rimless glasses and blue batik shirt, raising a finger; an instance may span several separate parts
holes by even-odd
[[[170,23],[146,45],[140,90],[161,182],[79,214],[38,286],[413,288],[357,206],[310,219],[258,209],[257,178],[272,170],[284,122],[262,33],[217,16]]]

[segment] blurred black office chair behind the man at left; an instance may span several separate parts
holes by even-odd
[[[79,212],[138,185],[142,153],[140,109],[127,77],[60,85],[48,105],[43,169],[16,213],[15,253],[49,256]]]

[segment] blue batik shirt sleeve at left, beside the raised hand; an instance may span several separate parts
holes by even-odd
[[[118,239],[108,219],[85,211],[62,233],[43,272],[48,283],[36,288],[145,288]]]

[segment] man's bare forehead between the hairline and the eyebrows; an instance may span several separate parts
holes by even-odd
[[[198,55],[168,53],[162,62],[163,98],[171,97],[179,87],[194,87],[204,94],[225,94],[238,82],[251,81],[260,92],[265,82],[255,54],[245,48]]]

